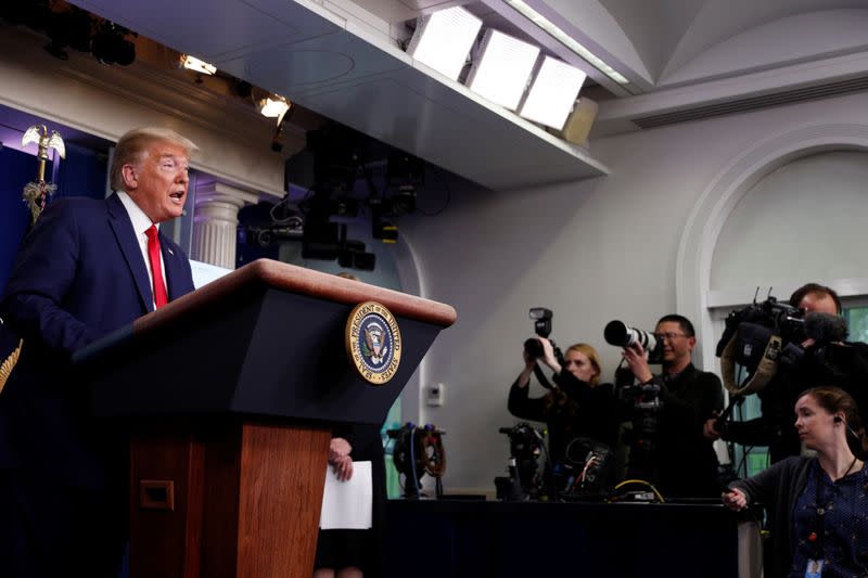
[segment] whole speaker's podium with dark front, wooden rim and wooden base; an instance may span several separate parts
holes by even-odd
[[[359,303],[392,312],[382,385],[346,355]],[[261,259],[92,344],[98,416],[130,424],[132,578],[312,571],[331,431],[381,424],[451,307]]]

